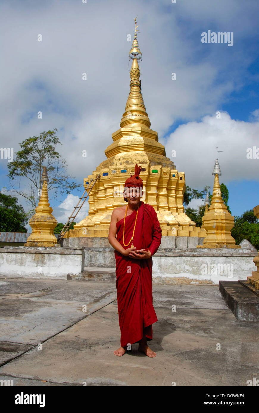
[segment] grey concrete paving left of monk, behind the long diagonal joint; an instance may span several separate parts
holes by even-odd
[[[110,283],[34,281],[6,279],[1,286],[2,341],[36,345],[116,299]]]

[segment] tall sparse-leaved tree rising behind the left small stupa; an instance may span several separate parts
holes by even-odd
[[[62,145],[56,133],[58,129],[53,131],[44,131],[39,136],[33,136],[23,140],[19,145],[21,150],[15,152],[16,159],[8,162],[10,170],[7,176],[10,178],[10,185],[14,192],[22,195],[26,199],[29,206],[29,214],[32,216],[35,213],[35,208],[39,201],[41,183],[41,173],[43,165],[48,171],[48,192],[54,191],[53,198],[56,198],[58,193],[70,194],[70,192],[81,185],[70,181],[74,179],[72,176],[65,174],[66,161],[56,151],[57,145]],[[21,188],[21,182],[17,183],[14,188],[12,182],[18,177],[26,178],[25,189]]]

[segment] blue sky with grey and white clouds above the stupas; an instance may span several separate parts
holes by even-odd
[[[167,157],[176,150],[171,159],[186,184],[201,190],[213,186],[218,146],[232,214],[253,208],[259,204],[259,159],[247,159],[246,151],[259,147],[257,1],[3,0],[0,146],[17,151],[22,140],[58,128],[67,172],[82,183],[82,191],[51,203],[65,222],[83,179],[106,159],[120,127],[129,93],[127,35],[133,37],[136,15],[144,102]],[[233,46],[201,43],[208,30],[233,32]],[[7,160],[0,159],[2,188],[9,185],[7,172]],[[80,219],[87,210],[86,204]]]

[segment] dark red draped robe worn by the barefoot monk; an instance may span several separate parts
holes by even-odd
[[[124,242],[127,244],[132,237],[137,211],[126,216]],[[124,218],[117,222],[117,240],[124,249],[122,242]],[[155,254],[161,244],[161,228],[156,211],[149,204],[140,201],[137,224],[135,228],[134,247],[149,249]],[[115,250],[116,258],[116,288],[121,331],[120,345],[139,342],[143,333],[147,341],[152,340],[152,324],[157,317],[153,307],[152,297],[152,257],[134,259],[124,256]]]

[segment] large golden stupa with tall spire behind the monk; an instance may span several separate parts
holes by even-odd
[[[107,237],[113,209],[125,204],[122,197],[125,180],[134,173],[137,163],[142,165],[144,196],[142,200],[153,206],[158,215],[162,235],[205,237],[206,231],[185,215],[183,194],[185,173],[178,172],[165,156],[165,147],[158,142],[158,134],[150,128],[149,116],[141,94],[138,61],[141,51],[137,40],[137,22],[129,58],[130,92],[120,129],[112,134],[113,143],[105,150],[106,161],[84,179],[84,188],[91,178],[100,173],[89,194],[89,215],[74,225],[65,237]]]

